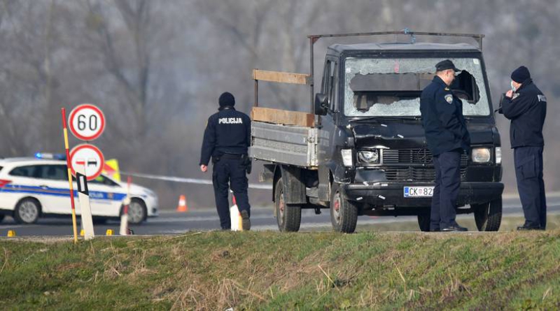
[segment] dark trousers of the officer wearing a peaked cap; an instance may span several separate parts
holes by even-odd
[[[435,188],[430,210],[430,231],[455,226],[455,206],[461,187],[461,151],[443,152],[433,157]]]

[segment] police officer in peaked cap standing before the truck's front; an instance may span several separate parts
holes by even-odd
[[[430,231],[467,231],[455,221],[461,153],[470,148],[463,104],[449,89],[456,72],[459,70],[449,59],[437,63],[435,77],[420,96],[422,125],[435,167]]]

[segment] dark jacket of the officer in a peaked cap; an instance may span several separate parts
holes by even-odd
[[[470,136],[463,117],[463,103],[437,75],[420,96],[422,126],[433,155],[469,150]]]

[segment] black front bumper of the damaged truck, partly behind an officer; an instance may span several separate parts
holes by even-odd
[[[374,182],[370,184],[341,185],[346,199],[366,203],[372,207],[400,208],[430,207],[431,197],[405,197],[405,187],[433,187],[430,182]],[[457,205],[487,203],[503,194],[501,182],[461,182]]]

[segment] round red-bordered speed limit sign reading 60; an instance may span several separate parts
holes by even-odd
[[[105,116],[97,106],[84,103],[73,108],[68,123],[70,131],[76,138],[91,141],[103,133],[105,129]]]

